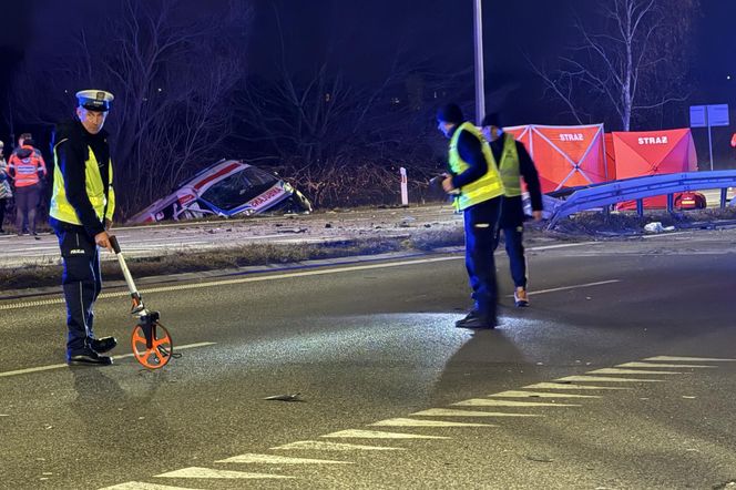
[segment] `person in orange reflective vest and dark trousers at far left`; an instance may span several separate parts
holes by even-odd
[[[41,197],[41,177],[47,176],[45,162],[41,152],[33,147],[33,140],[27,137],[8,162],[8,174],[16,186],[16,231],[18,235],[35,233],[35,208]],[[24,223],[31,228],[28,232]]]

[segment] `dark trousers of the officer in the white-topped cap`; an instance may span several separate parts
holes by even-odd
[[[83,353],[94,338],[93,306],[102,289],[100,252],[81,227],[55,232],[64,265],[61,284],[67,300],[67,354],[73,356]]]

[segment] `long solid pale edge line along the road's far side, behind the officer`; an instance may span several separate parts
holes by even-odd
[[[188,290],[188,289],[202,289],[206,287],[218,287],[218,286],[229,286],[234,284],[245,284],[245,283],[262,283],[264,280],[276,280],[276,279],[289,279],[294,277],[308,277],[308,276],[324,276],[328,274],[339,274],[348,273],[355,270],[370,270],[377,268],[389,268],[389,267],[402,267],[418,264],[431,264],[436,262],[447,262],[447,261],[459,261],[464,259],[464,257],[450,256],[450,257],[432,257],[432,258],[421,258],[418,261],[400,261],[400,262],[389,262],[384,264],[367,264],[367,265],[354,265],[349,267],[339,267],[339,268],[329,268],[329,269],[317,269],[317,270],[301,270],[298,273],[286,273],[277,275],[266,275],[266,276],[248,276],[241,277],[237,279],[223,279],[223,280],[213,280],[209,283],[195,283],[195,284],[180,284],[176,286],[161,286],[161,287],[151,287],[147,289],[141,289],[139,293],[141,295],[152,294],[152,293],[171,293],[175,290]],[[114,292],[114,293],[102,293],[101,298],[116,298],[116,297],[127,297],[131,294],[127,290]],[[35,302],[19,302],[19,303],[8,303],[0,305],[0,310],[7,309],[20,309],[28,308],[32,306],[48,306],[48,305],[59,305],[64,303],[64,298],[51,298],[51,299],[41,299]]]

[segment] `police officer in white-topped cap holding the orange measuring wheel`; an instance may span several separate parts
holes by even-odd
[[[108,229],[115,211],[108,133],[102,130],[113,101],[103,90],[76,93],[76,118],[57,126],[55,169],[49,211],[64,265],[67,300],[67,361],[110,365],[102,354],[113,349],[114,337],[96,338],[94,302],[102,288],[99,247],[112,251]]]

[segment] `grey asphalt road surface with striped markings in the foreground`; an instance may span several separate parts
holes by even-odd
[[[527,309],[497,255],[478,333],[451,254],[151,286],[182,347],[159,371],[65,367],[60,298],[1,302],[0,488],[732,488],[735,244],[540,247]]]

